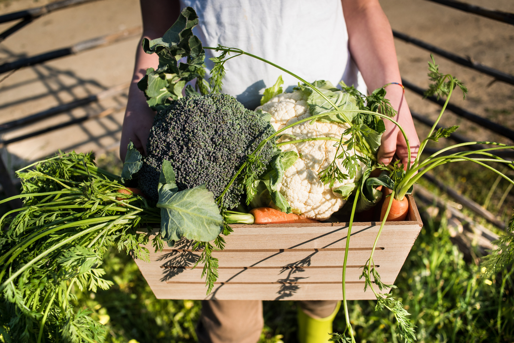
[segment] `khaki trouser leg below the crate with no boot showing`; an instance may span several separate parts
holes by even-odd
[[[256,343],[264,327],[261,300],[203,300],[200,343]]]

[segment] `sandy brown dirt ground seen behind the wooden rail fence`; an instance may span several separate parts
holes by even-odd
[[[469,3],[491,9],[514,12],[511,0],[469,0]],[[0,0],[0,14],[41,6],[46,0]],[[426,0],[381,0],[393,29],[447,49],[474,61],[514,73],[514,27],[478,15],[465,13]],[[12,23],[0,24],[0,31]],[[100,35],[116,33],[141,25],[137,0],[99,0],[96,2],[52,12],[9,36],[0,43],[0,64],[45,51],[67,47]],[[0,83],[0,122],[22,118],[58,104],[97,93],[108,87],[130,81],[134,51],[138,38],[89,50],[77,55],[53,60],[38,66],[20,69]],[[402,77],[426,87],[429,52],[395,40]],[[492,121],[514,127],[514,86],[493,82],[487,75],[456,65],[436,55],[440,70],[454,74],[468,86],[466,101],[457,92],[452,102]],[[0,75],[0,79],[6,74]],[[413,111],[435,119],[439,106],[421,100],[407,91]],[[18,137],[37,129],[62,123],[84,113],[99,113],[118,108],[102,119],[13,143],[3,148],[4,161],[13,167],[23,161],[33,161],[57,149],[95,150],[102,153],[117,150],[126,93],[100,103],[63,113],[38,124],[5,132],[2,139]],[[450,112],[445,125],[462,125],[460,134],[476,140],[507,139],[491,134],[478,125],[468,123]],[[417,123],[420,137],[426,127]]]

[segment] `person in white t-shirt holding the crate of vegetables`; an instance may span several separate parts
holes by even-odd
[[[262,56],[309,81],[343,80],[361,92],[388,83],[401,83],[393,35],[378,0],[141,0],[143,37],[161,37],[186,6],[195,9],[199,25],[193,30],[205,46],[218,43]],[[207,58],[215,52],[206,50]],[[206,59],[207,67],[209,62]],[[128,95],[120,156],[128,140],[145,153],[153,112],[136,83],[146,68],[156,67],[157,55],[139,46],[133,82]],[[259,105],[262,90],[283,75],[284,85],[298,81],[261,61],[239,56],[226,64],[223,92],[247,108]],[[398,111],[396,121],[405,129],[416,157],[419,140],[403,97],[402,87],[386,87],[387,99]],[[389,121],[378,151],[378,162],[389,164],[396,154],[407,165],[406,142]],[[335,300],[299,302],[300,342],[328,341],[339,309]],[[200,342],[258,341],[264,321],[257,300],[206,300],[198,325]]]

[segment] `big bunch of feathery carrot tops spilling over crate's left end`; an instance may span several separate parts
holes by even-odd
[[[24,207],[0,219],[3,339],[102,341],[104,326],[90,311],[74,311],[70,290],[111,287],[99,267],[112,245],[148,260],[141,246],[148,235],[136,228],[158,223],[158,210],[140,196],[118,193],[119,177],[98,168],[92,153],[60,154],[33,167],[18,173]],[[153,243],[162,246],[159,236]]]

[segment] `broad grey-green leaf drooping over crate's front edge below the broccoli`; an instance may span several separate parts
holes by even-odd
[[[159,189],[157,207],[161,208],[161,237],[179,240],[181,237],[208,242],[223,230],[214,194],[201,184],[194,188],[171,192]]]

